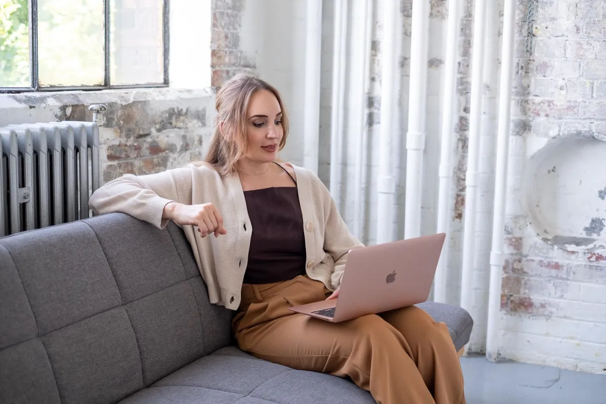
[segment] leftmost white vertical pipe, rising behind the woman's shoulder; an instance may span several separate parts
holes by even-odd
[[[322,0],[305,3],[305,111],[303,165],[318,174],[320,136],[320,71],[322,54]]]

